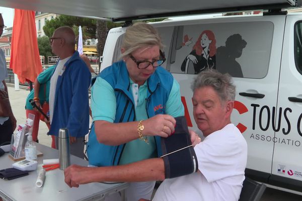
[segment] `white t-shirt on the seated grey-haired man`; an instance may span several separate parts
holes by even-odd
[[[194,147],[198,172],[165,179],[155,200],[239,199],[247,164],[247,143],[233,124],[211,133]]]

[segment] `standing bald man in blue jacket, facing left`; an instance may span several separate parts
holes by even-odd
[[[88,88],[91,73],[74,50],[75,35],[70,27],[59,27],[49,38],[52,53],[59,56],[50,80],[49,134],[56,136],[60,128],[69,131],[70,153],[84,157],[84,137],[89,129]]]

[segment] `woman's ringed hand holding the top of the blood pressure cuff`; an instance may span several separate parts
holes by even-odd
[[[170,115],[156,115],[141,124],[144,126],[142,135],[166,138],[174,133],[176,120]]]

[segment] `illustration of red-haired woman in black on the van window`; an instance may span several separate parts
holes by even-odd
[[[181,65],[181,70],[189,74],[198,74],[204,69],[215,69],[216,64],[216,40],[215,35],[210,30],[203,31],[192,52],[185,58]]]

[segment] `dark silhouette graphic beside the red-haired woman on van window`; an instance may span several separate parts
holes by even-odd
[[[241,65],[236,58],[241,57],[247,42],[240,34],[234,34],[225,41],[225,46],[217,48],[216,69],[221,73],[229,73],[233,77],[243,77]]]

